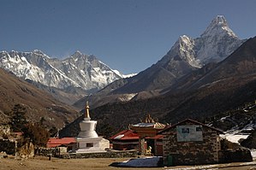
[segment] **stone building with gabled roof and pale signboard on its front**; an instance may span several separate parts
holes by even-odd
[[[220,130],[195,120],[169,126],[163,134],[164,165],[198,165],[219,161]]]

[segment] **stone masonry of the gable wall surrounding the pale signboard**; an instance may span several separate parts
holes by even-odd
[[[184,122],[182,125],[194,125]],[[164,164],[196,165],[218,162],[220,142],[218,132],[208,126],[202,127],[203,141],[177,142],[176,127],[163,132]]]

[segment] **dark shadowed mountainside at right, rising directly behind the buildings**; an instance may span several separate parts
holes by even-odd
[[[92,109],[93,119],[98,120],[98,132],[105,135],[110,131],[118,132],[129,124],[139,122],[145,114],[152,114],[163,123],[176,123],[187,118],[199,121],[215,117],[220,119],[229,110],[252,103],[256,97],[255,47],[256,37],[250,38],[223,62],[207,65],[185,76],[189,83],[181,88],[189,91],[165,91],[159,97],[109,103]],[[180,79],[177,81],[182,82]],[[74,121],[68,128],[72,125],[75,129],[77,123]],[[65,131],[63,129],[63,134],[68,134]]]

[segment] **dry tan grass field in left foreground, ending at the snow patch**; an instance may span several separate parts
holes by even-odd
[[[98,158],[98,159],[57,159],[36,156],[34,159],[15,160],[14,158],[0,159],[0,170],[98,170],[98,169],[125,169],[109,167],[112,162],[126,161],[128,158]],[[127,168],[130,169],[131,168]],[[143,168],[141,168],[143,169]],[[146,169],[146,168],[145,168]],[[151,168],[152,170],[154,168]],[[160,168],[155,168],[160,169]]]

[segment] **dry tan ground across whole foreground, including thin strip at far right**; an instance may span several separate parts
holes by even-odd
[[[112,169],[176,169],[176,170],[192,170],[192,169],[222,169],[222,170],[256,170],[256,162],[250,165],[241,163],[220,164],[216,167],[110,167],[113,162],[127,161],[128,158],[98,158],[98,159],[57,159],[52,158],[51,161],[47,157],[36,156],[34,159],[15,160],[14,157],[0,159],[0,170],[112,170]],[[253,163],[253,164],[252,164]]]

